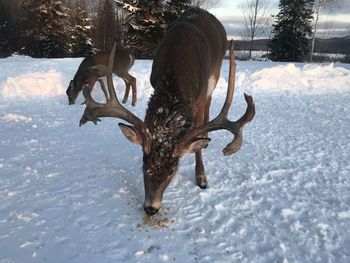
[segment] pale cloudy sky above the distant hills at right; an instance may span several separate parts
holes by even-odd
[[[277,14],[279,1],[265,1],[269,2],[268,15]],[[224,24],[228,35],[235,38],[242,38],[244,35],[242,2],[246,0],[220,0],[214,8],[209,9]],[[350,0],[325,0],[317,36],[329,38],[348,35],[350,35]]]

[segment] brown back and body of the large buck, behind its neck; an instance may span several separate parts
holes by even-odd
[[[200,99],[207,93],[209,77],[221,67],[226,45],[225,29],[217,18],[199,8],[189,9],[158,47],[151,73],[153,88],[157,91],[166,86],[160,82],[175,78],[180,92],[194,101]]]

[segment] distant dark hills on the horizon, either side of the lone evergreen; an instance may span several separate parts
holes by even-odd
[[[253,50],[267,50],[269,39],[258,39],[253,41]],[[249,41],[236,40],[236,50],[248,50]],[[315,52],[334,53],[334,54],[350,54],[350,36],[334,37],[330,39],[316,38]]]

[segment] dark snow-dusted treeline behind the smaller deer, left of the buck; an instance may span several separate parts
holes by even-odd
[[[146,4],[148,3],[148,4]],[[0,0],[0,57],[82,57],[113,42],[150,58],[191,0]]]

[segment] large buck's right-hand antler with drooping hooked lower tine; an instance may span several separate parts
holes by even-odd
[[[236,63],[234,58],[234,46],[233,40],[231,40],[229,83],[224,106],[222,107],[221,112],[215,119],[185,134],[180,139],[178,145],[179,149],[183,148],[185,145],[190,143],[194,138],[198,136],[203,136],[208,132],[221,129],[228,130],[234,135],[234,139],[223,149],[223,153],[225,156],[231,155],[241,148],[243,141],[243,128],[248,122],[250,122],[254,118],[255,105],[253,102],[253,98],[247,94],[244,94],[245,101],[247,102],[247,109],[244,115],[238,121],[230,121],[227,119],[227,114],[230,109],[234,93],[235,73]]]

